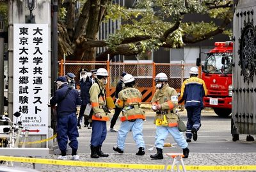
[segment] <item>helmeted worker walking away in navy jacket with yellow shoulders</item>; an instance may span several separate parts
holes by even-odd
[[[186,130],[186,141],[197,140],[197,131],[201,127],[201,110],[204,109],[203,97],[207,95],[207,88],[204,80],[197,77],[198,69],[192,67],[189,71],[190,78],[182,83],[179,102],[185,100],[188,122]]]

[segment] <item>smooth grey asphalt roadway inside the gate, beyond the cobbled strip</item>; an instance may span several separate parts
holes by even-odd
[[[186,113],[180,113],[182,120],[186,123]],[[156,125],[153,124],[154,116],[149,114],[147,121],[143,124],[143,137],[148,148],[154,147]],[[115,126],[119,128],[120,121],[117,121]],[[109,126],[109,123],[108,123]],[[79,152],[90,153],[90,134],[91,130],[79,130]],[[107,138],[104,141],[102,150],[106,153],[113,153],[112,147],[116,145],[117,132],[108,132]],[[172,136],[167,137],[166,143],[175,143]],[[230,134],[230,117],[220,118],[212,112],[204,112],[202,115],[202,127],[198,131],[198,140],[189,143],[191,153],[244,153],[256,152],[254,142],[246,142],[246,135],[240,135],[240,140],[233,142]],[[180,148],[164,148],[166,151],[180,152]],[[164,150],[164,152],[165,152]],[[132,132],[127,136],[125,142],[125,153],[135,153],[137,151]]]

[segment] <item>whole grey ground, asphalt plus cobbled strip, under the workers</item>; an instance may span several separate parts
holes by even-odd
[[[186,113],[180,113],[182,120],[186,122]],[[165,164],[171,160],[164,155],[163,160],[152,160],[150,154],[156,153],[154,148],[156,126],[153,124],[154,116],[148,113],[147,120],[144,122],[143,135],[146,143],[145,155],[136,156],[138,151],[132,139],[132,133],[127,136],[124,154],[115,153],[112,148],[116,145],[117,132],[108,132],[106,141],[102,146],[104,153],[109,153],[108,158],[90,158],[90,134],[91,130],[79,130],[79,150],[80,160],[89,162],[113,162],[129,164]],[[120,121],[117,121],[118,129]],[[109,123],[108,123],[109,127]],[[253,136],[255,137],[255,136]],[[256,137],[255,137],[256,138]],[[175,143],[172,136],[166,139],[166,143]],[[175,145],[174,145],[175,146]],[[153,151],[148,150],[153,148]],[[198,132],[198,141],[189,143],[189,158],[184,159],[184,163],[190,166],[205,165],[255,165],[256,164],[256,142],[247,142],[245,135],[240,135],[240,140],[233,142],[230,134],[230,118],[219,118],[212,112],[202,113],[202,127]],[[182,149],[166,147],[164,153],[182,152]],[[58,155],[53,153],[49,158],[56,159]],[[26,164],[25,166],[29,166]],[[107,168],[82,168],[71,166],[51,166],[44,165],[42,171],[153,171],[150,169],[107,169]],[[154,170],[163,171],[163,170]],[[216,171],[216,170],[215,170]],[[227,170],[228,171],[228,170]],[[243,171],[243,170],[241,170]],[[255,170],[254,170],[255,171]]]

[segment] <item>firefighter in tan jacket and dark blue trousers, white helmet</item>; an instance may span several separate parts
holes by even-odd
[[[108,71],[105,68],[97,70],[97,78],[90,88],[90,102],[93,109],[92,114],[92,137],[91,137],[91,157],[108,157],[102,152],[102,143],[107,136],[106,123],[109,121],[108,107],[106,106],[105,86],[108,82]]]

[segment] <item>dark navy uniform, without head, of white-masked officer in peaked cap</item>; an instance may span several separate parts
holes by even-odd
[[[80,126],[80,121],[83,118],[84,110],[86,108],[87,104],[90,104],[90,94],[89,90],[92,86],[92,79],[90,77],[86,77],[85,81],[84,79],[80,80],[80,90],[81,90],[81,99],[82,99],[82,105],[80,107],[80,113],[77,119],[77,126]],[[88,118],[84,118],[84,125],[89,125]],[[91,125],[91,124],[90,124]]]

